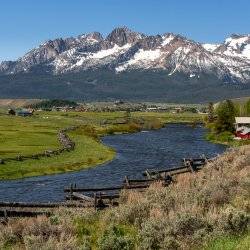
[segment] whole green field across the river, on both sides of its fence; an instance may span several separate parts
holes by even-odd
[[[52,157],[6,161],[0,179],[63,173],[94,167],[113,159],[113,149],[103,145],[100,137],[114,133],[158,129],[166,122],[201,122],[198,114],[135,112],[36,112],[32,117],[0,114],[0,159],[33,155],[60,147],[57,133],[62,128],[80,126],[68,133],[76,143],[74,151]]]

